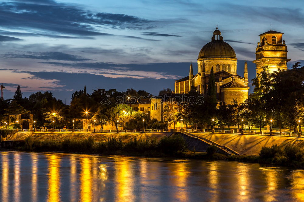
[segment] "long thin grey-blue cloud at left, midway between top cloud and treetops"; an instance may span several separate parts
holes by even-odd
[[[28,54],[2,54],[4,58],[27,58],[27,59],[43,59],[43,60],[67,60],[67,61],[87,61],[80,56],[70,55],[63,52],[27,52]]]

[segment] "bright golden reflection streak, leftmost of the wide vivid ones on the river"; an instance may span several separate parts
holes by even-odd
[[[49,161],[48,201],[60,201],[60,158],[58,155],[47,156]]]

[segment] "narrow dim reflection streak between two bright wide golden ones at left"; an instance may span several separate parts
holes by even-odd
[[[77,200],[77,160],[75,156],[70,157],[70,201]]]

